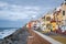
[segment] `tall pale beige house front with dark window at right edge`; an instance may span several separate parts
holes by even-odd
[[[63,15],[63,25],[66,25],[66,0],[61,6],[61,14]]]

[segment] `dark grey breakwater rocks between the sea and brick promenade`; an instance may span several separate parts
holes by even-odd
[[[13,34],[4,37],[2,41],[0,41],[0,44],[26,44],[28,43],[28,30],[26,28],[22,28],[16,30]]]

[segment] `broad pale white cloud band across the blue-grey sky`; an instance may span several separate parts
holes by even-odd
[[[40,15],[42,11],[50,8],[41,8],[35,6],[19,6],[19,4],[9,4],[8,2],[0,1],[0,19],[7,20],[21,20],[21,19],[31,19],[33,16]]]

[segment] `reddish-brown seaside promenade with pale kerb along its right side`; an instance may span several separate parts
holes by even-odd
[[[31,35],[28,37],[28,44],[62,44],[35,30],[29,30],[29,32]]]

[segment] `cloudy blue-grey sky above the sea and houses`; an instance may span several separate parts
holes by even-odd
[[[21,28],[61,6],[64,0],[0,0],[0,28]]]

